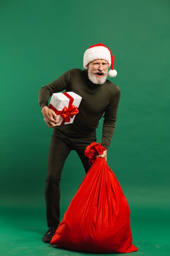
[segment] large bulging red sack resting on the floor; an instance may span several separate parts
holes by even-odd
[[[93,142],[85,155],[93,163],[58,226],[51,245],[93,253],[137,251],[132,245],[130,209],[104,158],[106,148]]]

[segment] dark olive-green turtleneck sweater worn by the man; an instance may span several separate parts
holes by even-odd
[[[119,87],[108,80],[101,85],[94,84],[88,79],[87,71],[68,70],[57,80],[41,88],[38,95],[40,107],[48,106],[53,93],[64,90],[79,94],[82,101],[73,124],[57,126],[53,134],[60,137],[86,137],[95,131],[99,119],[104,115],[101,144],[108,149],[115,130]]]

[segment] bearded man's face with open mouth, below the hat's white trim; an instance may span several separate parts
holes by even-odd
[[[95,84],[102,84],[108,75],[108,62],[102,59],[91,61],[88,65],[88,78]]]

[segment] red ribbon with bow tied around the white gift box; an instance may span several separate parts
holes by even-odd
[[[61,122],[61,125],[64,124],[65,122],[70,123],[70,117],[73,118],[74,115],[76,115],[79,112],[78,108],[73,105],[74,98],[71,97],[70,94],[68,94],[67,92],[62,92],[62,93],[66,97],[68,97],[68,99],[70,99],[68,103],[68,108],[64,107],[63,110],[57,110],[56,108],[54,108],[53,105],[51,105],[51,103],[49,104],[49,108],[51,108],[56,115],[61,115],[63,119]]]

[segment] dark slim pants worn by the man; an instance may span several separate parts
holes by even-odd
[[[75,150],[87,173],[91,166],[89,165],[88,157],[85,157],[84,152],[86,146],[93,141],[96,141],[95,133],[83,139],[60,138],[52,135],[45,187],[46,218],[48,227],[50,225],[59,225],[60,223],[60,179],[66,158],[71,150]]]

